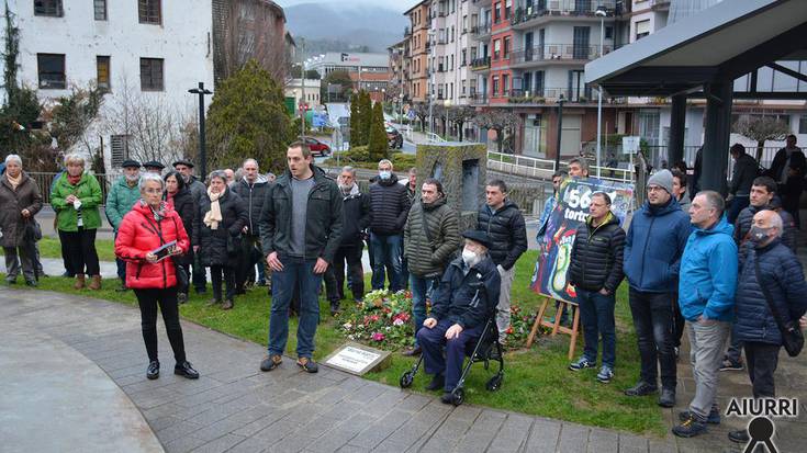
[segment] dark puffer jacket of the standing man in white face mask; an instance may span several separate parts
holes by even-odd
[[[397,177],[378,179],[370,184],[370,230],[390,236],[403,233],[410,214],[410,195],[406,186],[397,183]]]

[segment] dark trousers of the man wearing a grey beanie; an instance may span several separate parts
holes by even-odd
[[[639,343],[641,380],[650,385],[658,385],[657,376],[660,371],[662,387],[675,389],[677,380],[673,351],[673,293],[646,293],[631,287],[629,298]]]

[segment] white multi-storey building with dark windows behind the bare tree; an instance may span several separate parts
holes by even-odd
[[[91,134],[108,171],[128,157],[126,132],[109,117],[124,99],[195,120],[188,90],[213,88],[210,1],[9,0],[9,9],[20,29],[20,82],[43,102],[90,83],[108,91]]]

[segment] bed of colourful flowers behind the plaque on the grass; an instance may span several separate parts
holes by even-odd
[[[338,330],[348,339],[385,350],[411,347],[414,340],[412,293],[377,290],[339,315]]]

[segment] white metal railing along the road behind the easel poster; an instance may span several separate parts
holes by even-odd
[[[560,168],[565,168],[568,161],[562,160]],[[503,173],[517,174],[528,178],[550,180],[557,171],[553,159],[539,159],[529,156],[509,155],[504,152],[487,151],[487,168]],[[635,171],[632,168],[620,169],[610,167],[589,168],[589,174],[596,175],[599,169],[599,178],[607,181],[632,182]]]

